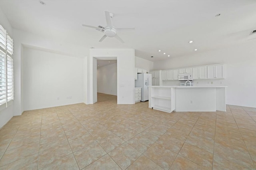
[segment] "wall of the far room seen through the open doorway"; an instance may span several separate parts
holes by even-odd
[[[117,64],[110,64],[97,69],[97,91],[117,95]]]

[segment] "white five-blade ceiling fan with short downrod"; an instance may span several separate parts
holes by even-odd
[[[115,28],[111,24],[111,18],[114,16],[114,14],[110,13],[108,11],[105,11],[105,16],[106,16],[106,21],[107,21],[106,27],[102,27],[102,26],[95,27],[95,26],[88,26],[85,24],[82,24],[82,26],[89,27],[89,28],[95,28],[96,30],[99,30],[100,32],[104,32],[105,35],[102,36],[102,38],[100,38],[99,42],[102,42],[106,37],[115,37],[117,40],[124,43],[124,41],[117,35],[116,31],[117,30],[134,30],[135,28]]]

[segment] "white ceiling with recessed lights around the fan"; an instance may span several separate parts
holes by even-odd
[[[0,0],[13,28],[85,48],[134,48],[135,55],[157,61],[248,42],[256,30],[256,0]],[[98,42],[106,26],[131,28]],[[219,17],[215,17],[220,13]],[[193,43],[188,43],[193,40]],[[250,41],[255,41],[250,40]],[[158,52],[158,49],[161,52]],[[194,51],[198,49],[198,51]],[[163,54],[166,53],[166,55]],[[154,56],[154,57],[151,57]]]

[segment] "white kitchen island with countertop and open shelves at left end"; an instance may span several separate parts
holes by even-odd
[[[148,86],[148,107],[159,111],[226,111],[226,86]]]

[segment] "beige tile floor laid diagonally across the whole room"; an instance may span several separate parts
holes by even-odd
[[[13,117],[0,130],[0,170],[255,169],[256,108],[164,113],[98,94]]]

